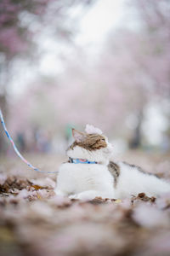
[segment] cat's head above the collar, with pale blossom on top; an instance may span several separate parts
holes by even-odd
[[[72,129],[74,143],[67,149],[73,159],[86,159],[107,164],[111,159],[113,147],[107,137],[93,125],[86,125],[85,132]]]

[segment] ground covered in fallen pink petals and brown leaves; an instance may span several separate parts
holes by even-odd
[[[127,152],[116,160],[142,166],[167,180],[169,154]],[[55,171],[62,156],[27,155]],[[31,171],[19,158],[0,158],[1,256],[169,256],[170,194],[82,202],[54,195],[55,174]]]

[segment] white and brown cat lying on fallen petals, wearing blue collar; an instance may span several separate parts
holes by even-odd
[[[59,167],[56,195],[90,201],[95,197],[124,199],[145,193],[157,196],[170,184],[140,167],[111,160],[113,147],[98,128],[72,129],[74,143],[67,149],[69,161]]]

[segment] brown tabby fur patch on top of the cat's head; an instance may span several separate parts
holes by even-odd
[[[72,143],[70,148],[73,149],[76,146],[92,151],[99,148],[106,148],[107,143],[105,142],[105,137],[103,137],[102,135],[85,133],[85,139],[80,143]]]

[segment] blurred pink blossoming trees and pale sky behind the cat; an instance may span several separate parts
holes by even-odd
[[[168,156],[169,13],[168,0],[1,0],[0,108],[21,152],[65,154],[71,127],[92,124],[115,154]]]

